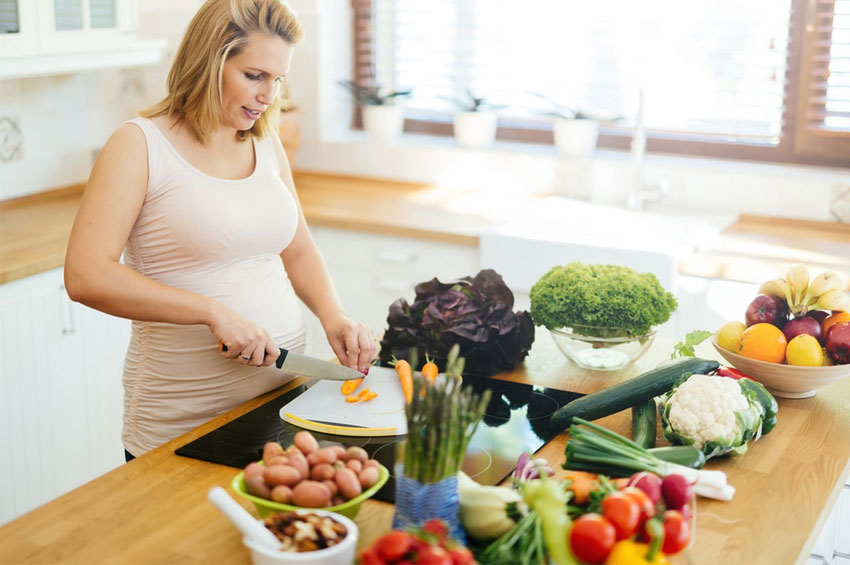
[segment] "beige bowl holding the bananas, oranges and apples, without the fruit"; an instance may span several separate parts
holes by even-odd
[[[732,353],[717,344],[717,336],[711,343],[730,365],[760,382],[774,395],[781,398],[809,398],[819,388],[850,377],[850,365],[828,365],[825,367],[798,367],[750,359]]]

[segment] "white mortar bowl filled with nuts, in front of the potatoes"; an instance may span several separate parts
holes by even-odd
[[[254,565],[337,565],[353,563],[357,525],[341,514],[325,510],[279,512],[260,520],[281,542],[275,550],[250,538],[242,543]]]

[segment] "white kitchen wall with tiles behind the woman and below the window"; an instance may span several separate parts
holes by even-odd
[[[0,81],[4,117],[20,128],[21,150],[0,153],[0,199],[83,182],[93,152],[109,134],[164,94],[174,51],[202,0],[139,2],[142,38],[168,40],[163,60],[131,70]],[[296,49],[290,84],[302,110],[295,167],[466,188],[552,192],[597,202],[625,198],[632,178],[627,153],[598,151],[593,160],[559,158],[552,146],[498,143],[486,151],[450,138],[407,136],[395,145],[351,132],[351,100],[337,81],[350,76],[349,0],[291,0],[306,38]],[[850,222],[850,171],[650,155],[650,181],[670,186],[666,204],[713,212]]]

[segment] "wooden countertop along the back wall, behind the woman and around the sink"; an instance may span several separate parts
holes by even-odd
[[[296,173],[295,181],[311,225],[465,245],[477,245],[484,229],[548,196],[307,172]],[[82,190],[0,202],[0,284],[62,266]],[[850,225],[742,215],[708,247],[684,258],[680,272],[760,283],[795,262],[838,271],[850,288]]]

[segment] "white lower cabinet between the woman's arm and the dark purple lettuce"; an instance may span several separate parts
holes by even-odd
[[[375,333],[386,329],[390,304],[412,302],[414,286],[434,277],[442,281],[474,276],[478,248],[472,245],[393,237],[323,226],[311,227],[343,307],[352,319]],[[333,355],[312,314],[307,316],[308,353]]]

